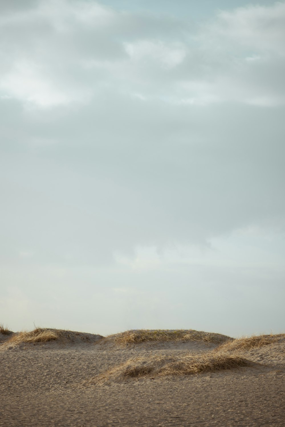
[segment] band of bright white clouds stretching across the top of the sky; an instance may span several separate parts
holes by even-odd
[[[97,2],[37,4],[0,18],[2,97],[68,105],[109,87],[174,104],[285,104],[285,3],[221,11],[196,32]]]

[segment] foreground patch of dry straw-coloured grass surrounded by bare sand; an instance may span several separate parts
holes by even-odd
[[[120,382],[129,378],[155,377],[165,375],[195,375],[248,366],[250,362],[240,356],[226,356],[213,352],[199,356],[150,357],[130,359],[95,377],[97,383]],[[94,380],[94,379],[93,379]],[[94,382],[94,381],[93,381]]]

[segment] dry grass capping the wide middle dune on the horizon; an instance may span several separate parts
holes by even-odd
[[[221,344],[231,340],[229,336],[220,333],[203,332],[193,329],[177,329],[177,330],[127,330],[126,332],[109,335],[106,340],[115,342],[121,346],[128,346],[133,344],[140,344],[141,342],[187,342],[187,341],[200,341],[205,344]]]

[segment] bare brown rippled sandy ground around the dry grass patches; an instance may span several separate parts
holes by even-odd
[[[285,426],[284,339],[242,352],[254,366],[102,386],[90,379],[130,357],[211,347],[191,342],[121,349],[90,337],[73,345],[7,346],[0,336],[0,426]]]

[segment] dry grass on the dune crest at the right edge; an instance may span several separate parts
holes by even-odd
[[[232,341],[222,343],[216,350],[251,350],[259,348],[264,345],[270,345],[277,342],[280,338],[285,338],[285,333],[277,335],[257,335],[257,336],[244,336]]]

